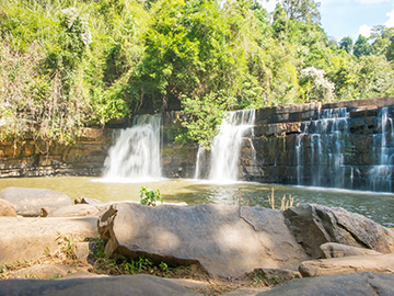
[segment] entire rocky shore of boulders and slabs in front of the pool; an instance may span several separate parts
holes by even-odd
[[[394,293],[394,231],[343,208],[76,202],[0,192],[0,295]]]

